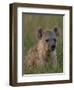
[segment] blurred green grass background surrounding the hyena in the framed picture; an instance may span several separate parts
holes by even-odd
[[[25,74],[38,73],[60,73],[63,72],[63,15],[44,15],[44,14],[22,14],[23,33],[24,33],[24,60],[28,50],[37,44],[36,32],[38,27],[44,30],[50,30],[54,26],[60,28],[60,35],[57,37],[57,59],[58,65],[54,68],[49,62],[44,67],[27,67],[24,66]]]

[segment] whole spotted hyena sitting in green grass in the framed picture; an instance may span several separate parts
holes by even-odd
[[[44,31],[42,28],[37,30],[38,42],[31,48],[26,56],[26,64],[28,66],[39,66],[48,63],[48,58],[52,61],[53,66],[57,66],[57,36],[58,28]]]

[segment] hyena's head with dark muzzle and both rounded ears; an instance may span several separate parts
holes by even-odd
[[[42,28],[38,29],[38,38],[46,51],[54,51],[56,49],[58,35],[57,27],[54,27],[51,31],[43,31]]]

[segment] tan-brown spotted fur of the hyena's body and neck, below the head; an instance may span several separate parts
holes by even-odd
[[[48,62],[49,50],[46,43],[40,40],[37,46],[31,48],[26,57],[26,64],[28,66],[44,65]]]

